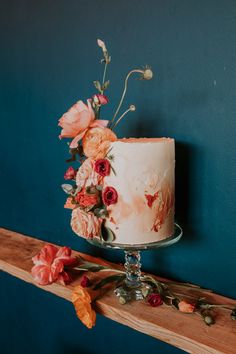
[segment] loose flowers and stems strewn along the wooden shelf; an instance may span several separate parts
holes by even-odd
[[[74,256],[69,247],[58,248],[47,244],[32,260],[34,266],[31,274],[39,285],[48,285],[56,281],[65,285],[76,279],[75,271],[79,272],[80,276],[83,272],[89,274],[96,272],[112,273],[95,282],[90,280],[89,275],[84,274],[80,284],[73,289],[72,302],[75,306],[76,314],[88,328],[92,328],[96,321],[93,303],[106,291],[110,290],[111,286],[121,284],[126,276],[125,271],[122,269],[88,262],[82,257]],[[165,304],[183,313],[199,315],[208,326],[215,323],[214,309],[220,308],[230,311],[231,319],[236,320],[236,306],[211,304],[205,297],[202,297],[203,291],[205,294],[211,292],[210,290],[188,283],[159,281],[155,277],[146,274],[142,275],[141,280],[152,286],[152,292],[144,294],[145,301],[150,306],[158,307]],[[198,295],[181,295],[181,289],[194,290]],[[119,301],[122,304],[126,303],[126,299],[122,297],[119,298]]]

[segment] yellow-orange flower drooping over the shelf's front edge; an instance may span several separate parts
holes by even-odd
[[[89,291],[78,285],[72,293],[72,302],[75,306],[75,311],[81,322],[91,329],[96,322],[96,312],[92,309],[92,298]]]

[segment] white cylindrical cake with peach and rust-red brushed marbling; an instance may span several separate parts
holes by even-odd
[[[175,144],[171,138],[120,139],[110,144],[112,173],[104,190],[118,195],[105,225],[113,243],[146,244],[174,231]]]

